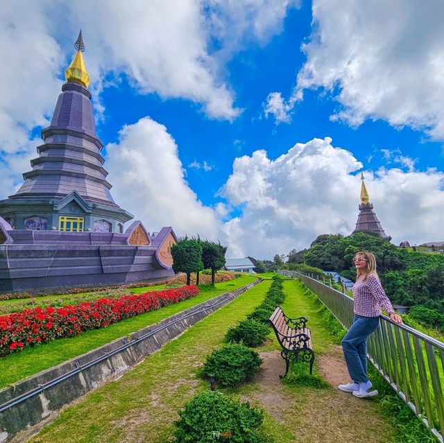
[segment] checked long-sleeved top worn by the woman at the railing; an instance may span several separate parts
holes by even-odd
[[[374,274],[368,275],[364,281],[364,276],[359,275],[355,286],[353,286],[353,297],[355,301],[355,314],[363,317],[379,317],[381,309],[388,315],[393,314],[393,306],[382,289],[381,282]]]

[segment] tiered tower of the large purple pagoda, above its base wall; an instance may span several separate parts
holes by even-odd
[[[24,173],[17,193],[0,200],[0,216],[15,229],[123,232],[133,218],[112,200],[106,181],[81,31],[75,46],[51,125],[42,130],[39,157],[31,160],[33,169]]]

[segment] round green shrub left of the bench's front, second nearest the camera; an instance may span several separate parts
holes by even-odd
[[[257,352],[244,345],[232,343],[216,349],[209,356],[200,371],[200,376],[216,376],[223,386],[237,386],[256,374],[262,359]]]

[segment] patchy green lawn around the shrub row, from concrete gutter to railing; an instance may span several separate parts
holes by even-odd
[[[196,392],[209,388],[207,382],[196,379],[205,356],[222,344],[228,327],[244,319],[262,301],[270,285],[271,281],[264,281],[201,320],[121,379],[65,409],[31,441],[173,441],[178,410]],[[289,315],[309,318],[317,355],[327,355],[336,339],[325,327],[325,314],[316,298],[307,296],[305,287],[294,280],[284,282],[284,291],[288,295],[284,310]],[[270,338],[272,342],[257,350],[274,350],[273,358],[281,364],[274,335]],[[393,442],[393,431],[379,417],[372,402],[363,402],[333,388],[282,385],[277,376],[273,383],[267,388],[256,381],[238,389],[223,390],[223,394],[250,399],[259,406],[266,404],[262,429],[276,443]],[[280,408],[278,417],[273,412],[275,407]],[[349,426],[350,419],[359,426]]]

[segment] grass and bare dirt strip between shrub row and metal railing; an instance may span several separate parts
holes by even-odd
[[[286,442],[393,442],[393,430],[379,414],[375,401],[358,399],[337,389],[337,385],[349,380],[341,346],[332,342],[323,327],[319,306],[304,297],[295,283],[286,281],[284,284],[288,295],[284,311],[287,313],[288,310],[290,317],[305,315],[309,318],[314,342],[323,342],[319,349],[315,347],[315,372],[330,387],[315,389],[284,385],[279,379],[279,374],[284,373],[284,361],[278,348],[268,351],[268,345],[267,350],[260,353],[264,363],[262,374],[257,379],[259,389],[244,398],[262,404],[287,428]]]

